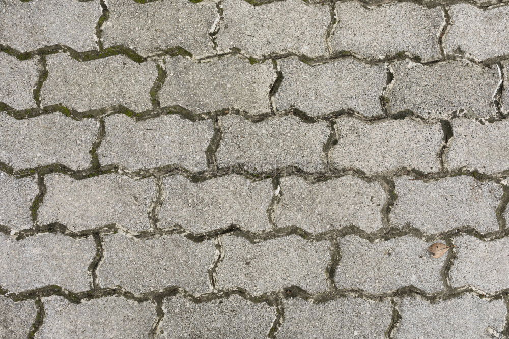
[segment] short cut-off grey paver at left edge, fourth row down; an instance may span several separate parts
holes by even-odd
[[[0,224],[12,231],[32,227],[30,207],[37,193],[34,177],[16,179],[0,171]]]

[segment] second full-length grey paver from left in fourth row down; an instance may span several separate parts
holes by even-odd
[[[164,228],[178,224],[194,233],[232,224],[251,232],[272,228],[267,216],[274,194],[270,179],[253,182],[229,175],[191,182],[179,175],[164,178],[163,185],[165,199],[158,219]]]

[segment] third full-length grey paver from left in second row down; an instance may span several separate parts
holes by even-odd
[[[387,81],[385,65],[340,59],[310,66],[282,59],[283,80],[274,96],[276,108],[297,108],[310,116],[353,110],[372,117],[383,114],[380,95]]]

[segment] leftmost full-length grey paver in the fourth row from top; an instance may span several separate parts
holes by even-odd
[[[151,229],[149,209],[156,197],[152,178],[136,180],[104,174],[75,180],[63,174],[44,177],[46,194],[37,223],[61,222],[72,231],[118,224],[131,231]]]

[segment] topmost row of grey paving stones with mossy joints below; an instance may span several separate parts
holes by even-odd
[[[319,57],[349,51],[368,59],[403,51],[430,61],[443,56],[439,36],[447,17],[441,38],[446,55],[484,60],[509,54],[505,6],[481,10],[457,4],[444,12],[411,2],[375,8],[338,2],[332,15],[328,4],[300,0],[262,6],[243,0],[110,0],[106,15],[99,1],[2,0],[2,7],[0,44],[19,51],[56,44],[77,51],[122,45],[146,56],[178,46],[196,57],[235,48],[252,56],[293,52]]]

